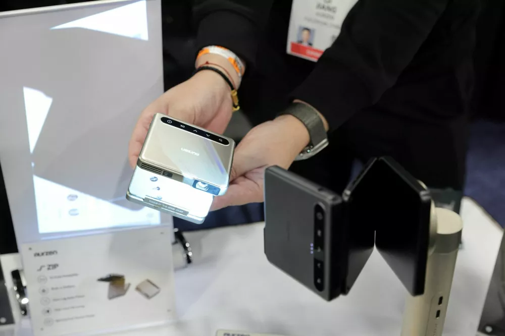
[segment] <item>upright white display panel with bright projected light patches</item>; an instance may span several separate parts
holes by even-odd
[[[125,199],[140,111],[163,93],[160,0],[0,13],[0,163],[18,244],[170,223]]]

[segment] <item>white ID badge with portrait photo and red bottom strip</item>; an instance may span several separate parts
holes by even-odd
[[[358,0],[293,0],[286,51],[317,62]]]

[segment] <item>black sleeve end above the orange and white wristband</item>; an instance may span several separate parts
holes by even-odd
[[[194,0],[196,46],[220,45],[254,64],[273,0]]]

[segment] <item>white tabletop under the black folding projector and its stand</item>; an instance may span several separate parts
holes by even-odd
[[[447,336],[476,334],[503,233],[469,199],[463,201],[462,217],[464,246],[449,298]],[[206,336],[218,329],[286,336],[400,334],[407,291],[377,252],[349,295],[325,302],[268,263],[263,227],[185,234],[195,261],[176,271],[179,320],[115,335]],[[17,334],[29,332],[19,326]]]

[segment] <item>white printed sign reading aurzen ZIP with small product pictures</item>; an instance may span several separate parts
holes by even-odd
[[[34,336],[175,319],[170,229],[46,240],[21,250]]]

